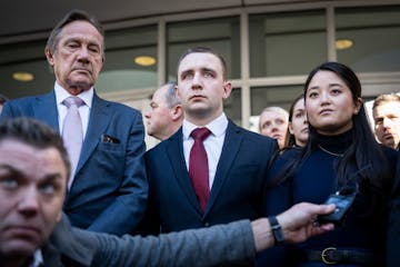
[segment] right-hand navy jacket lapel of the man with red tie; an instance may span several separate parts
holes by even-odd
[[[234,158],[237,157],[242,138],[242,131],[240,130],[240,128],[229,120],[226,138],[222,146],[221,157],[217,166],[217,172],[211,187],[210,197],[207,202],[204,215],[207,215],[208,211],[211,209],[212,205],[217,200],[219,191],[228,179],[228,171],[231,168]]]

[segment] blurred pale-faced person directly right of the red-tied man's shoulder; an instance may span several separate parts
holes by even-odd
[[[267,107],[260,113],[260,134],[276,139],[279,149],[286,147],[288,125],[289,113],[280,107]]]

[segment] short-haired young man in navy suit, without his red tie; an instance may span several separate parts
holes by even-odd
[[[177,91],[184,111],[182,127],[146,154],[148,230],[169,233],[261,217],[268,161],[278,146],[224,115],[231,83],[223,58],[209,48],[189,49],[178,63]],[[201,207],[188,170],[190,134],[203,127],[211,134],[203,141],[209,196]]]

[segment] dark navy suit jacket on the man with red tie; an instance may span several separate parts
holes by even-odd
[[[144,156],[150,186],[146,226],[156,234],[160,226],[169,233],[261,217],[266,172],[277,147],[276,140],[229,121],[203,214],[184,162],[182,129],[178,130]]]

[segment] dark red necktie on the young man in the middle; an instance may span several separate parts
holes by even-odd
[[[196,128],[190,136],[194,144],[190,150],[189,176],[202,210],[209,197],[209,169],[203,140],[211,134],[207,128]]]

